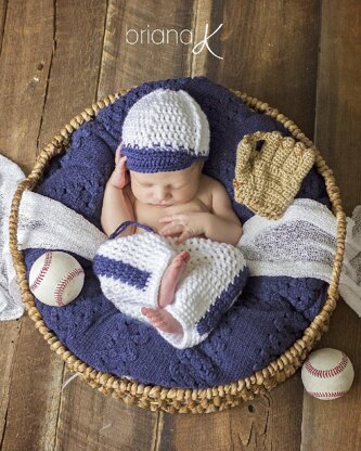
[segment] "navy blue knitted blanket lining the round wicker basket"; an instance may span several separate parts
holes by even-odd
[[[136,101],[157,88],[183,89],[199,103],[210,125],[210,158],[204,172],[223,183],[232,199],[235,150],[243,136],[257,130],[289,134],[281,124],[250,111],[231,91],[205,77],[147,82],[75,131],[68,152],[52,159],[37,192],[62,202],[100,228],[104,188],[114,169],[125,116]],[[323,178],[314,168],[297,197],[330,207]],[[242,222],[253,216],[235,202],[233,208]],[[25,252],[28,271],[44,250]],[[194,348],[175,349],[154,327],[117,310],[103,296],[92,262],[74,256],[86,270],[83,289],[63,308],[36,300],[43,321],[88,365],[143,384],[204,388],[249,376],[302,336],[326,296],[327,284],[315,279],[250,278],[205,342]]]

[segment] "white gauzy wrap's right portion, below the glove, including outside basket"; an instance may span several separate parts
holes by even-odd
[[[250,275],[287,275],[331,281],[336,253],[334,215],[324,205],[297,198],[279,220],[254,216],[244,223],[240,246]],[[347,218],[338,292],[361,317],[361,206]]]

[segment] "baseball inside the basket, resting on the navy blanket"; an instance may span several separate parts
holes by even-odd
[[[61,307],[79,295],[83,279],[83,269],[74,257],[60,250],[48,252],[34,262],[29,287],[41,302]]]

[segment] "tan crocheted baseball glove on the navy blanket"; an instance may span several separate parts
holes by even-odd
[[[262,149],[256,143],[265,140]],[[279,131],[246,134],[236,150],[234,198],[255,214],[278,219],[314,163],[314,151]]]

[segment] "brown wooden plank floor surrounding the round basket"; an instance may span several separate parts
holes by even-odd
[[[209,39],[222,60],[206,48],[192,52],[206,24],[208,35],[223,24]],[[28,173],[52,136],[96,99],[146,80],[206,75],[276,106],[313,138],[350,215],[361,204],[360,24],[359,0],[0,0],[0,152]],[[192,30],[193,44],[159,44],[159,33],[152,42],[157,28]],[[341,399],[310,398],[298,372],[230,411],[170,415],[77,378],[62,389],[72,374],[33,321],[2,322],[1,451],[360,450],[360,324],[339,301],[318,345],[353,362],[356,379]]]

